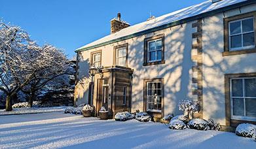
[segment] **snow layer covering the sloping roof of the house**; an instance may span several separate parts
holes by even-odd
[[[91,48],[92,46],[97,46],[99,44],[103,44],[104,42],[113,41],[115,39],[120,39],[122,37],[132,35],[134,33],[138,33],[140,31],[146,31],[148,29],[153,29],[155,27],[159,27],[161,25],[170,24],[172,22],[176,22],[179,20],[183,20],[185,18],[189,18],[192,16],[197,16],[198,14],[204,14],[206,12],[210,12],[212,10],[217,10],[219,8],[224,8],[230,5],[234,5],[237,3],[241,3],[243,1],[248,0],[223,0],[216,3],[212,3],[211,0],[205,1],[198,5],[193,5],[191,7],[183,8],[181,10],[177,10],[175,12],[171,12],[169,14],[165,14],[163,16],[159,16],[158,18],[141,22],[140,24],[132,25],[130,27],[126,27],[117,33],[113,33],[111,35],[107,35],[97,41],[91,42],[82,46],[81,48],[77,48],[77,50],[82,50],[86,48]]]

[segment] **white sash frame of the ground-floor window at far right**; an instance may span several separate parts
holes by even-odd
[[[256,79],[256,77],[241,77],[241,78],[230,78],[230,115],[231,115],[231,119],[232,120],[249,120],[249,121],[256,121],[256,117],[249,117],[246,116],[246,99],[255,99],[256,97],[246,97],[245,96],[245,83],[244,80],[245,79],[251,79],[254,78]],[[234,97],[232,96],[232,80],[241,80],[242,79],[242,85],[243,85],[243,97]],[[233,98],[242,98],[244,99],[244,116],[234,116],[233,115]]]

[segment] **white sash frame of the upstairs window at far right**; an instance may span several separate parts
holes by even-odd
[[[242,21],[243,20],[248,20],[248,19],[253,19],[253,31],[247,31],[247,32],[244,32],[243,33],[243,25],[242,25]],[[241,27],[241,33],[236,33],[234,35],[230,35],[230,24],[231,23],[234,23],[234,22],[240,22],[240,27]],[[236,51],[236,50],[246,50],[246,49],[249,49],[249,48],[255,48],[255,45],[252,45],[252,46],[243,46],[244,44],[244,34],[247,34],[247,33],[254,33],[254,37],[255,37],[255,28],[254,28],[254,17],[251,16],[251,17],[246,17],[246,18],[242,18],[242,19],[238,19],[238,20],[233,20],[233,21],[230,21],[229,22],[229,50],[230,51]],[[238,48],[231,48],[231,37],[232,36],[236,36],[236,35],[241,35],[242,36],[242,46],[241,47],[238,47]],[[254,39],[254,42],[255,42],[255,39]],[[254,43],[255,44],[255,43]]]

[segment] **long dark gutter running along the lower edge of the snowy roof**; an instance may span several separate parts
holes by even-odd
[[[204,12],[202,14],[198,14],[196,16],[191,16],[189,18],[184,18],[184,19],[181,19],[181,20],[177,20],[175,22],[171,22],[169,24],[164,24],[164,25],[160,25],[158,27],[154,27],[154,28],[151,28],[151,29],[147,29],[147,30],[144,30],[144,31],[139,31],[137,33],[134,33],[132,35],[126,35],[124,37],[120,37],[118,39],[113,39],[111,41],[107,41],[107,42],[102,42],[100,44],[96,44],[94,46],[88,46],[86,48],[81,48],[81,49],[77,49],[75,50],[75,52],[82,52],[82,51],[86,51],[86,50],[90,50],[92,48],[98,48],[100,46],[105,46],[107,44],[113,44],[115,42],[119,42],[119,41],[124,41],[126,39],[132,39],[134,37],[137,37],[137,36],[141,36],[141,35],[145,35],[147,33],[152,33],[154,31],[159,31],[159,30],[162,30],[162,29],[166,29],[166,28],[169,28],[169,27],[173,27],[175,25],[181,25],[181,24],[185,24],[187,22],[191,22],[191,21],[194,21],[194,20],[198,20],[199,18],[206,18],[208,16],[212,16],[213,14],[217,14],[219,12],[225,12],[225,11],[228,11],[228,10],[232,10],[234,8],[239,8],[239,7],[244,7],[246,5],[252,5],[256,3],[256,0],[248,0],[248,1],[243,1],[241,3],[236,3],[234,5],[229,5],[227,7],[223,7],[223,8],[218,8],[218,9],[215,9],[215,10],[211,10],[211,11],[208,11],[208,12]]]

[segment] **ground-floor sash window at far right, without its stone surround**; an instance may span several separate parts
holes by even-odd
[[[230,79],[230,109],[234,120],[256,120],[256,77]]]

